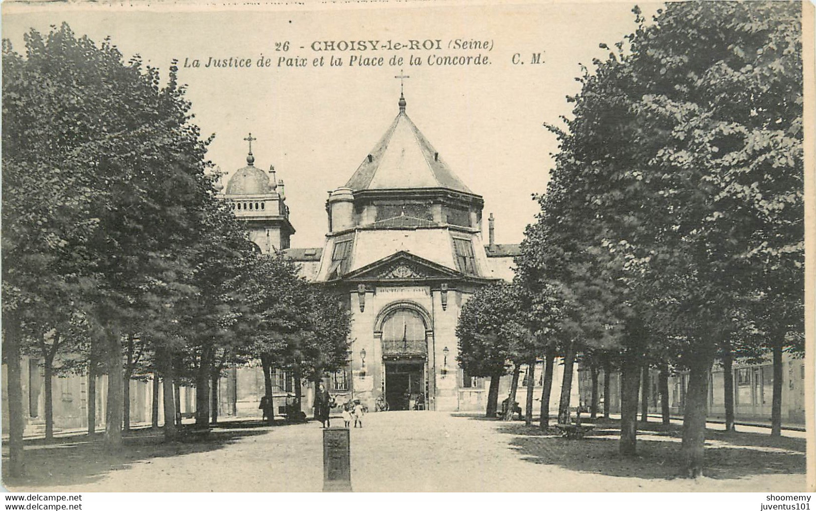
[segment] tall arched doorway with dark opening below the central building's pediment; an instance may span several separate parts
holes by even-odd
[[[383,393],[391,410],[428,408],[428,315],[417,304],[388,306],[377,322],[383,347]]]

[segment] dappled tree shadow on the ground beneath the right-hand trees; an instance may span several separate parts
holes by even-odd
[[[620,431],[615,425],[611,422],[603,424],[582,440],[568,440],[524,424],[500,424],[498,430],[512,437],[509,445],[522,460],[530,463],[554,464],[578,472],[622,478],[681,477],[683,462],[679,430],[639,432],[637,455],[624,457],[618,452]],[[706,438],[704,473],[708,478],[805,473],[804,439],[770,438],[758,433],[725,433],[710,429]]]

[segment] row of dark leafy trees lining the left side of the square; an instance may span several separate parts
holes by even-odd
[[[261,359],[319,378],[344,362],[349,319],[283,255],[260,255],[216,197],[206,146],[171,67],[166,84],[109,40],[67,24],[2,48],[2,330],[10,474],[23,471],[20,358],[51,377],[108,375],[104,442],[122,444],[131,377],[161,375],[166,438],[175,392],[197,386],[197,424],[217,420],[228,364]],[[298,385],[299,389],[299,385]],[[271,394],[271,392],[268,392]],[[154,390],[154,399],[157,389]],[[157,403],[154,403],[154,424]]]

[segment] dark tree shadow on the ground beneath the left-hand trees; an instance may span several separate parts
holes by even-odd
[[[42,439],[25,442],[25,471],[22,478],[10,478],[7,473],[7,450],[3,452],[2,482],[14,487],[36,488],[73,486],[95,482],[113,470],[127,469],[138,462],[150,463],[153,458],[188,455],[215,451],[241,438],[268,433],[271,428],[258,420],[230,421],[218,424],[209,433],[195,432],[192,425],[181,428],[177,442],[164,442],[161,430],[136,429],[122,438],[122,451],[109,454],[104,450],[103,435],[93,439],[86,435]]]

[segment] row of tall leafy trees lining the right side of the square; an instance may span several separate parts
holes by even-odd
[[[633,12],[636,31],[583,69],[565,127],[548,125],[561,150],[541,212],[516,281],[463,309],[478,318],[460,323],[462,363],[489,375],[559,354],[560,413],[576,356],[620,371],[624,455],[643,368],[687,371],[681,449],[696,477],[712,364],[725,367],[733,429],[731,364],[771,353],[778,435],[783,352],[804,351],[800,6],[670,3],[652,24]],[[511,319],[482,321],[480,302]]]

